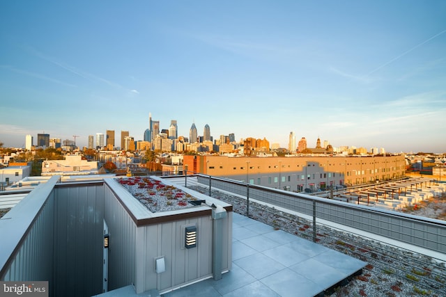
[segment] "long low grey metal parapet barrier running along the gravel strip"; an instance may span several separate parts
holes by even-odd
[[[200,184],[210,188],[244,196],[248,203],[249,198],[259,200],[306,214],[311,216],[314,222],[316,219],[328,220],[428,250],[446,253],[446,222],[443,220],[318,198],[209,175],[197,175],[197,179]],[[313,225],[315,228],[316,224]]]

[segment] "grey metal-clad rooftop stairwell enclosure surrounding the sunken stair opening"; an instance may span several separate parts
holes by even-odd
[[[230,204],[180,188],[203,203],[152,212],[118,179],[81,180],[51,177],[1,218],[0,280],[46,280],[49,296],[141,294],[231,269]]]

